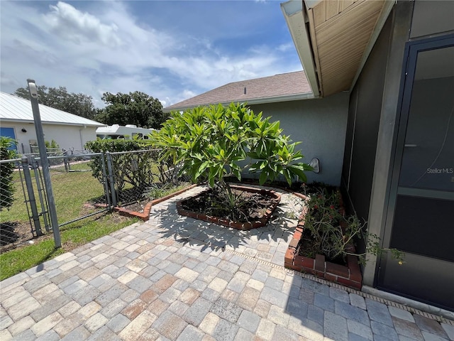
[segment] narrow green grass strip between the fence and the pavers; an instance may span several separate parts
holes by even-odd
[[[0,254],[0,281],[137,221],[138,219],[119,217],[114,213],[89,218],[62,228],[60,231],[62,247],[60,249],[55,249],[51,233],[49,239],[37,244]]]

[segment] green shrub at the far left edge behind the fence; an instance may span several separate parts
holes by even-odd
[[[16,158],[16,141],[9,137],[0,136],[0,160],[11,160]],[[0,210],[13,205],[14,192],[13,183],[14,163],[2,163],[0,166]]]

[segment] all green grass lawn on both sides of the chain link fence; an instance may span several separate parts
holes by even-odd
[[[87,168],[87,166],[80,165],[72,166],[71,169],[77,167],[80,169]],[[21,180],[17,172],[14,177],[16,185],[15,200],[9,210],[0,212],[0,222],[26,224],[28,223],[28,213],[23,199]],[[32,180],[35,183],[34,176]],[[92,176],[91,172],[76,171],[64,173],[54,169],[51,170],[51,180],[59,224],[97,212],[96,210],[99,211],[99,209],[86,205],[87,203],[98,201],[104,195],[103,186]],[[38,200],[36,184],[34,184],[34,187]],[[181,188],[182,186],[165,188],[165,190],[156,190],[155,193],[150,194],[155,199]],[[40,210],[40,207],[38,207],[38,210]],[[0,254],[0,281],[138,221],[137,218],[121,217],[117,213],[100,212],[84,220],[65,224],[65,226],[60,227],[62,239],[62,248],[60,249],[55,249],[53,234],[50,232],[45,234],[44,237],[34,239],[34,244],[18,247],[18,249]],[[43,232],[45,232],[42,217],[41,225]]]

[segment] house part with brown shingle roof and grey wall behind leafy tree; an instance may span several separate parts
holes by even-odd
[[[163,109],[182,111],[209,104],[247,102],[258,114],[279,121],[285,135],[302,143],[304,159],[319,159],[320,172],[308,172],[308,180],[341,184],[343,146],[348,115],[348,93],[328,99],[311,99],[314,94],[303,71],[243,80],[218,87]],[[295,124],[301,122],[301,124]],[[250,176],[250,175],[245,175]]]

